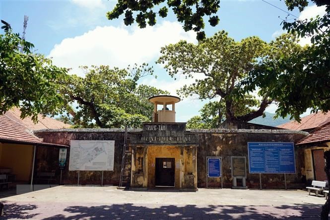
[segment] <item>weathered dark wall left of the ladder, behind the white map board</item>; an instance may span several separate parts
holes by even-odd
[[[103,184],[114,184],[119,185],[120,172],[121,172],[121,161],[123,156],[124,146],[124,132],[123,130],[107,130],[111,132],[100,132],[98,129],[83,130],[85,132],[78,132],[79,130],[57,130],[54,131],[43,131],[36,132],[35,134],[44,139],[46,143],[54,143],[61,145],[70,145],[71,140],[114,140],[115,141],[115,161],[114,171],[103,172]],[[54,150],[53,147],[39,147],[37,151],[37,170],[36,172],[54,171],[57,172],[59,178],[59,149]],[[67,162],[66,168],[63,170],[62,183],[64,184],[76,184],[77,183],[77,171],[68,170],[68,159],[70,151],[67,151]],[[53,161],[53,162],[51,162]],[[53,168],[51,168],[53,167]],[[55,168],[55,169],[54,169]],[[58,180],[59,181],[59,180]],[[80,171],[79,183],[84,184],[101,184],[101,171]]]

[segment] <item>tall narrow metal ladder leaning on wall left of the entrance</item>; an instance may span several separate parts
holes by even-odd
[[[132,172],[132,149],[127,147],[128,127],[125,127],[123,157],[122,157],[122,169],[120,172],[120,189],[129,188],[131,184],[131,172]],[[124,186],[125,185],[125,186]]]

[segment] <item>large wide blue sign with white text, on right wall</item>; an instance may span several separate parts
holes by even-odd
[[[249,142],[250,173],[296,173],[294,145],[288,142]]]

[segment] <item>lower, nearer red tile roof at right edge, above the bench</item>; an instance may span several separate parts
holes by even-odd
[[[315,129],[310,135],[298,141],[297,145],[330,142],[330,122]]]

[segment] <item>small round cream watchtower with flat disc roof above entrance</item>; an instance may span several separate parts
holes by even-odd
[[[181,101],[179,97],[156,95],[150,97],[149,101],[154,104],[152,122],[175,122],[175,103]]]

